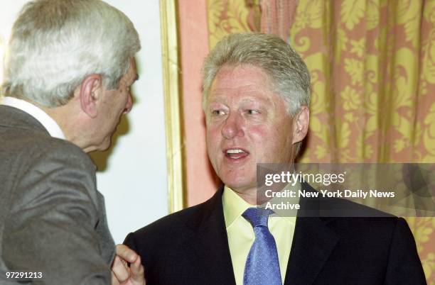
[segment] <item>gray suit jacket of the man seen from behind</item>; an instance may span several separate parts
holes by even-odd
[[[0,106],[0,284],[110,284],[114,242],[95,165],[27,113]]]

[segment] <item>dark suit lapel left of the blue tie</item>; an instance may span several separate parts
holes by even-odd
[[[198,264],[195,272],[203,271],[203,284],[235,284],[232,270],[230,247],[222,208],[223,186],[210,199],[196,220],[188,226],[193,230],[191,240],[186,246],[195,254]]]

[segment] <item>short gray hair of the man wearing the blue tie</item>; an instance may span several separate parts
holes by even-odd
[[[272,88],[294,115],[310,103],[310,74],[304,60],[277,35],[236,33],[213,48],[203,65],[203,108],[216,74],[223,66],[260,67],[272,79]]]

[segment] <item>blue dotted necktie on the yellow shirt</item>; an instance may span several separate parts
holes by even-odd
[[[251,223],[255,233],[246,259],[244,285],[282,285],[275,239],[267,228],[271,213],[263,208],[248,208],[242,214]]]

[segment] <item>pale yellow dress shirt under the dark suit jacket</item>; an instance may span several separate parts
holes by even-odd
[[[254,243],[255,235],[252,225],[242,217],[242,213],[247,208],[254,206],[247,203],[227,186],[225,186],[222,195],[222,206],[235,281],[237,285],[243,285],[245,263],[249,250]],[[283,282],[286,276],[287,263],[289,262],[295,225],[296,217],[269,216],[268,226],[276,242],[279,269]]]

